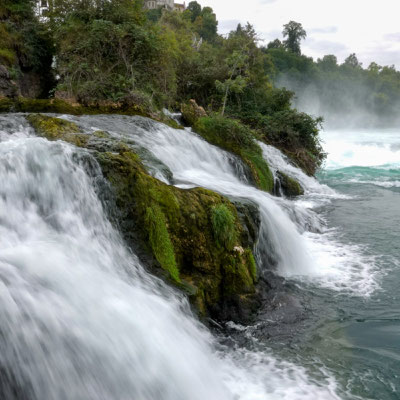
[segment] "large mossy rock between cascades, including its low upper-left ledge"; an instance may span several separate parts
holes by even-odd
[[[115,201],[116,221],[128,244],[142,249],[151,271],[190,297],[200,315],[246,319],[257,306],[252,254],[257,229],[246,205],[236,207],[210,190],[183,190],[148,174],[128,145],[106,133],[83,134],[66,120],[36,114],[27,119],[49,140],[93,151]],[[85,140],[83,140],[85,138]]]

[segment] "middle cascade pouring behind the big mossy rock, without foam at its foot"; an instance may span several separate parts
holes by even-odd
[[[84,123],[85,119],[80,120]],[[224,195],[249,199],[259,206],[262,226],[258,253],[283,275],[302,275],[312,271],[313,261],[303,237],[289,215],[268,193],[247,183],[244,172],[233,156],[208,144],[189,130],[176,130],[142,118],[98,118],[98,126],[118,137],[128,138],[145,147],[172,171],[174,184],[189,188],[205,187]],[[287,203],[289,204],[289,202]]]

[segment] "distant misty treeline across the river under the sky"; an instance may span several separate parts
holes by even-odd
[[[296,93],[294,106],[323,116],[331,126],[392,125],[400,121],[400,72],[372,62],[367,68],[351,54],[339,64],[334,55],[317,61],[293,52],[279,40],[263,49],[279,87]]]

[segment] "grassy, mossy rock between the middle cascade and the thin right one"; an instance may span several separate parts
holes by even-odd
[[[239,156],[250,169],[255,184],[272,193],[274,177],[250,128],[233,119],[213,116],[197,119],[194,130],[208,142]]]

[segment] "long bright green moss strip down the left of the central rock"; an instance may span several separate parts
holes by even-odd
[[[162,268],[169,272],[171,278],[180,282],[176,265],[174,247],[169,237],[164,213],[158,205],[147,207],[145,216],[146,230],[153,253]]]

